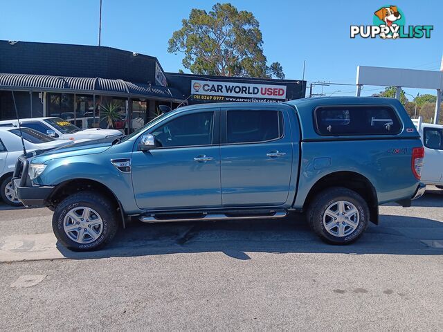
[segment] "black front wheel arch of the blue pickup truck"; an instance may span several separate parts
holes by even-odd
[[[46,206],[53,210],[61,201],[66,199],[66,197],[71,196],[71,194],[75,194],[76,192],[84,191],[98,192],[109,199],[120,215],[123,228],[125,228],[125,212],[122,204],[117,199],[117,196],[103,183],[89,178],[75,178],[60,183],[46,199]]]

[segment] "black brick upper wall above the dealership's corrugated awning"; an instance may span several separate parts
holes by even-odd
[[[156,58],[105,46],[0,41],[0,73],[102,77],[155,85]]]

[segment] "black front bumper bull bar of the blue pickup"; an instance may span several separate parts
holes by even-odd
[[[12,176],[12,189],[14,189],[17,199],[25,206],[44,205],[54,187],[33,185],[28,176],[28,169],[29,160],[25,156],[20,156]]]

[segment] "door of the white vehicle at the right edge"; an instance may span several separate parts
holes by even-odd
[[[424,164],[422,180],[427,183],[442,182],[443,129],[423,128]]]

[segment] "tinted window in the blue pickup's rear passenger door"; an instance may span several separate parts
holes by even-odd
[[[283,136],[280,111],[228,111],[226,142],[266,142]]]

